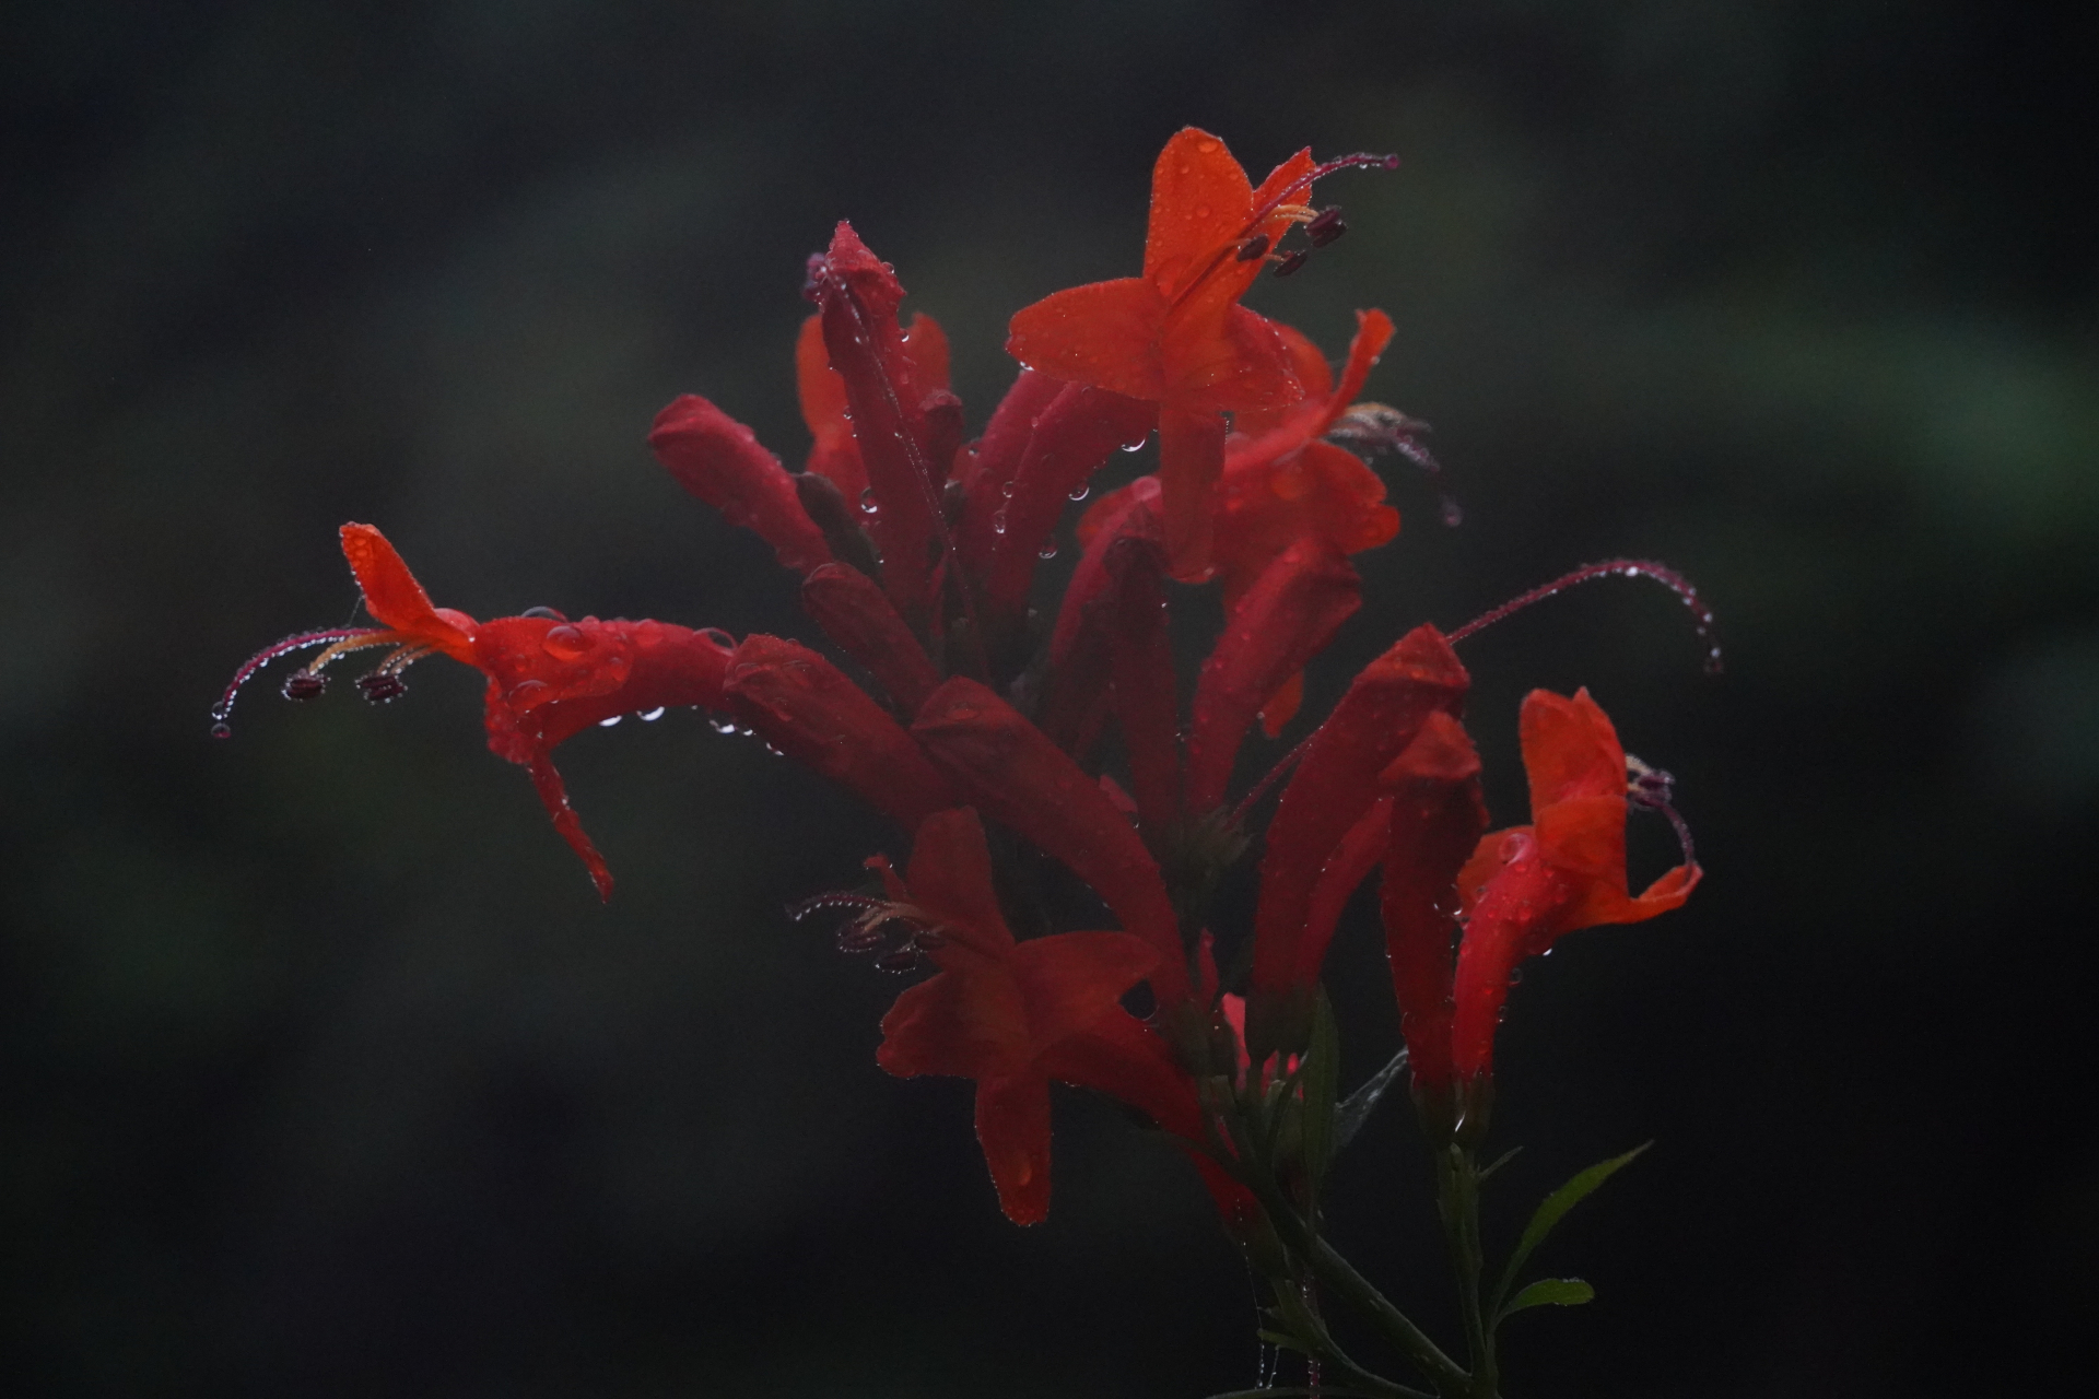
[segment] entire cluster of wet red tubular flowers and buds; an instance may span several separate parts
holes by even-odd
[[[1339,210],[1310,199],[1350,166],[1390,159],[1299,153],[1253,185],[1215,136],[1173,136],[1142,275],[1018,313],[1008,350],[1022,369],[974,440],[940,327],[907,325],[894,271],[838,224],[810,258],[817,313],[796,348],[806,470],[701,396],[665,407],[649,438],[686,491],[802,579],[831,654],[546,608],[474,621],[432,606],[378,529],[346,524],[378,625],[279,642],[216,717],[294,650],[321,648],[285,682],[292,698],[319,694],[353,650],[386,648],[359,680],[376,701],[420,657],[470,665],[487,677],[489,747],[531,772],[602,896],[611,873],[552,761],[594,724],[701,707],[850,789],[911,854],[903,873],[869,860],[875,883],[810,908],[848,912],[842,946],[884,967],[932,965],[884,1019],[879,1061],[976,1082],[978,1139],[1018,1223],[1050,1208],[1052,1082],[1108,1093],[1180,1139],[1228,1219],[1268,1206],[1274,1172],[1249,1160],[1261,1141],[1232,1105],[1293,1091],[1343,904],[1383,870],[1415,1099],[1465,1139],[1515,965],[1572,929],[1675,908],[1698,866],[1685,845],[1681,866],[1629,891],[1629,808],[1667,793],[1587,692],[1524,703],[1530,824],[1490,833],[1461,724],[1469,677],[1423,625],[1272,774],[1287,780],[1259,835],[1245,980],[1220,975],[1211,898],[1268,791],[1234,787],[1241,749],[1255,724],[1276,734],[1295,715],[1303,667],[1360,606],[1350,556],[1398,533],[1358,453],[1421,455],[1421,424],[1356,403],[1392,338],[1383,313],[1358,315],[1335,373],[1306,336],[1241,306],[1261,266],[1291,273],[1341,233]],[[1068,501],[1154,432],[1159,470],[1085,512],[1068,587],[1031,606]],[[1226,621],[1184,696],[1169,606],[1203,583]],[[1054,931],[1045,887],[1060,906],[1098,900],[1104,927]]]

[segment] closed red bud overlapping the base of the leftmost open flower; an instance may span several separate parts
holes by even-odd
[[[806,646],[749,636],[724,686],[766,742],[840,782],[907,828],[959,805],[896,719]]]

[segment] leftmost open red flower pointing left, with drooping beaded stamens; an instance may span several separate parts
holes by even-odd
[[[212,711],[220,719],[220,732],[248,677],[292,650],[327,642],[319,657],[285,682],[288,696],[311,698],[325,684],[323,669],[338,657],[393,646],[393,654],[357,682],[372,701],[401,694],[401,671],[422,657],[443,652],[489,677],[489,749],[531,770],[554,828],[584,860],[598,896],[611,898],[613,875],[584,835],[552,753],[565,738],[623,713],[661,711],[670,705],[722,709],[728,638],[661,621],[569,621],[546,608],[537,617],[476,623],[466,612],[430,606],[422,583],[374,526],[344,524],[342,556],[363,589],[365,610],[382,625],[315,631],[262,650],[239,669]]]

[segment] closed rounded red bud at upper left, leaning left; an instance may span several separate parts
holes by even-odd
[[[699,394],[682,394],[657,413],[649,447],[686,491],[722,512],[739,529],[772,545],[781,564],[808,573],[831,562],[793,478],[758,436]]]

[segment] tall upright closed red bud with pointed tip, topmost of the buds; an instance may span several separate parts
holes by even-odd
[[[924,625],[934,598],[932,552],[947,533],[940,489],[961,445],[959,405],[945,388],[919,382],[896,325],[905,287],[852,224],[840,222],[829,252],[810,260],[810,289],[873,491],[867,529],[882,552],[882,585],[909,623]]]

